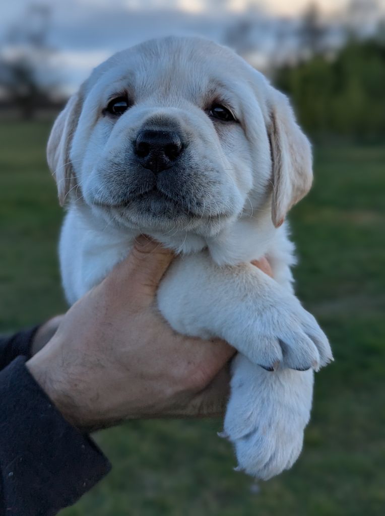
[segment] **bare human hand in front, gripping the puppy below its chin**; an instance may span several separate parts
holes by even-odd
[[[175,333],[155,307],[172,259],[169,250],[139,238],[130,256],[73,305],[49,344],[27,362],[79,429],[130,418],[223,413],[234,349]],[[269,270],[267,261],[258,266]]]

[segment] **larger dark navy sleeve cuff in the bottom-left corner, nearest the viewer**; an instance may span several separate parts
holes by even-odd
[[[0,514],[52,516],[110,470],[62,417],[19,357],[0,372]]]

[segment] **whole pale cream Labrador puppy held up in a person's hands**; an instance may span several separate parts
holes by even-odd
[[[47,149],[68,213],[60,240],[70,303],[146,233],[174,249],[158,309],[180,333],[221,337],[233,361],[224,436],[238,469],[268,479],[302,448],[313,370],[328,340],[294,296],[284,218],[312,156],[284,95],[199,38],[120,52],[72,96]],[[250,264],[267,256],[274,279]]]

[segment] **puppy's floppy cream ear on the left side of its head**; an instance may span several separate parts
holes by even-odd
[[[47,162],[57,184],[60,206],[75,182],[70,148],[81,111],[79,94],[73,95],[55,120],[47,144]]]

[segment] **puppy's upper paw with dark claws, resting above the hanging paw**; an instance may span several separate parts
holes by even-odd
[[[294,295],[278,288],[274,294],[262,306],[258,303],[243,326],[242,352],[269,371],[284,367],[318,370],[331,362],[328,338],[313,315]]]

